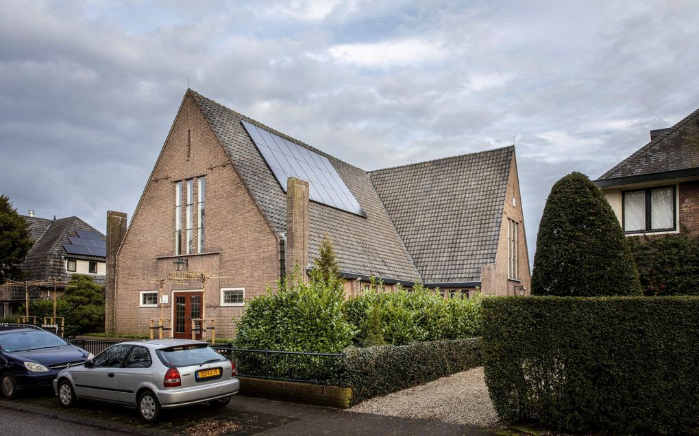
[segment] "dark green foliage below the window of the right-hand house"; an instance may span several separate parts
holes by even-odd
[[[699,239],[628,239],[645,295],[699,295]]]

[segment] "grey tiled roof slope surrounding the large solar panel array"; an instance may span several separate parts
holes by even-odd
[[[241,120],[328,158],[366,212],[365,218],[324,204],[310,202],[308,241],[310,258],[317,257],[320,241],[327,234],[333,241],[340,270],[343,273],[368,274],[407,281],[421,280],[415,264],[405,250],[403,241],[398,236],[365,171],[219,105],[199,93],[192,90],[188,90],[187,93],[199,105],[201,112],[275,232],[278,234],[287,232],[287,197]]]

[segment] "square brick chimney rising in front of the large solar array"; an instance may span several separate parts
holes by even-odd
[[[287,179],[287,276],[296,265],[301,280],[307,281],[308,266],[308,182],[295,177]]]

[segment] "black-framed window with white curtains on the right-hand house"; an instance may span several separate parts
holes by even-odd
[[[624,232],[675,230],[675,186],[624,191],[622,201]]]

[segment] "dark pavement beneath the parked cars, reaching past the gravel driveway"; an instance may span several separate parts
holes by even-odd
[[[86,423],[136,435],[187,435],[201,432],[207,436],[224,435],[474,435],[495,436],[507,430],[460,426],[441,421],[403,419],[394,416],[358,414],[329,407],[298,405],[280,401],[233,396],[225,409],[206,405],[172,409],[161,422],[142,423],[134,409],[80,403],[75,409],[62,409],[48,393],[22,396],[18,400],[0,400],[0,409],[27,411],[44,416]],[[228,431],[216,432],[209,423],[231,423]],[[231,431],[231,428],[235,430]]]

